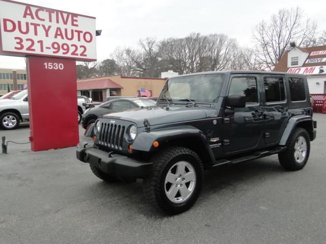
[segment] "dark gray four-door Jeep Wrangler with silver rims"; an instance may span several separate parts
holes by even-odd
[[[274,154],[285,169],[302,169],[316,137],[311,112],[303,75],[181,75],[167,80],[155,106],[97,119],[94,145],[79,143],[77,159],[105,181],[144,179],[145,195],[178,214],[197,200],[204,169]]]

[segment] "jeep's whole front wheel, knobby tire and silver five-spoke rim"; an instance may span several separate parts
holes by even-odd
[[[144,179],[144,193],[169,214],[191,208],[202,189],[204,169],[198,155],[184,147],[169,147],[152,159],[150,175]]]

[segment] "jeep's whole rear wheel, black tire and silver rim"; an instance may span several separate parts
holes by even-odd
[[[287,170],[300,170],[307,164],[310,153],[310,139],[303,128],[296,128],[287,149],[279,154],[280,164]]]

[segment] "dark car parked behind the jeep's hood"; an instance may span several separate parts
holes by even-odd
[[[86,129],[90,124],[94,123],[96,119],[104,114],[120,112],[122,110],[138,107],[147,107],[155,105],[155,102],[148,98],[119,98],[96,107],[89,108],[83,114],[82,125]]]

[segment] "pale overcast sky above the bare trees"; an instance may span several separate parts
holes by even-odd
[[[96,17],[97,59],[103,60],[117,47],[135,47],[139,39],[184,37],[192,32],[224,33],[241,46],[252,45],[252,29],[281,8],[300,6],[305,15],[326,29],[324,0],[31,0],[43,7]],[[23,69],[21,57],[0,56],[0,68]]]

